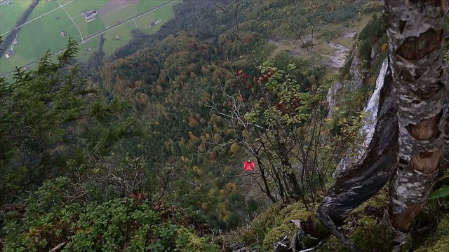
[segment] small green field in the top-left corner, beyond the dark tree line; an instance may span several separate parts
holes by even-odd
[[[31,1],[14,1],[12,6],[6,4],[0,6],[0,34],[14,29],[15,23],[30,3]]]

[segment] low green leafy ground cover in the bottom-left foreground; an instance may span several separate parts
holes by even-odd
[[[62,251],[217,251],[195,234],[201,226],[182,209],[140,197],[62,202],[68,185],[64,178],[48,182],[29,197],[23,216],[8,214],[5,251],[48,251],[62,243]]]

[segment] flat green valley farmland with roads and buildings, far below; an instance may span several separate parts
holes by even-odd
[[[166,3],[166,6],[154,9]],[[132,36],[132,29],[138,28],[147,34],[156,32],[161,25],[174,17],[173,6],[176,3],[179,1],[40,1],[18,33],[18,43],[13,47],[14,54],[8,59],[0,58],[0,76],[13,71],[15,66],[25,66],[35,62],[47,50],[52,53],[62,50],[67,45],[69,37],[80,43],[78,59],[81,62],[88,61],[93,52],[98,50],[101,34],[105,38],[102,49],[106,55],[110,55],[116,48],[128,43]],[[5,33],[13,29],[16,20],[20,18],[28,5],[28,1],[13,0],[12,6],[0,6],[1,13],[7,13],[0,16],[1,20],[8,19],[8,22],[1,22],[0,31]],[[95,15],[93,20],[87,22],[87,18],[82,13],[91,15],[91,10],[95,10]],[[151,11],[148,12],[149,10]],[[160,20],[158,24],[149,28],[150,23],[158,20]],[[119,39],[115,39],[116,37]]]

